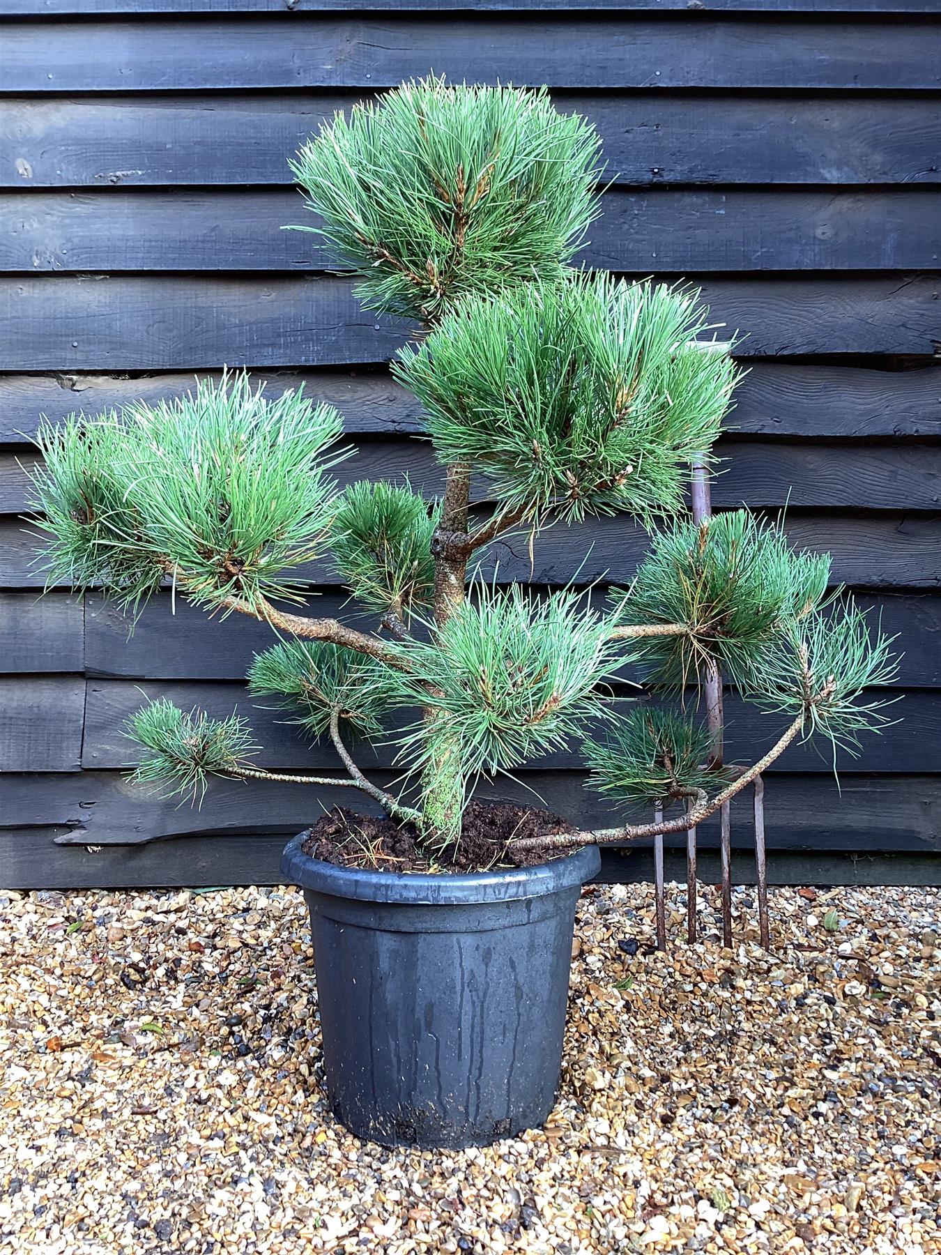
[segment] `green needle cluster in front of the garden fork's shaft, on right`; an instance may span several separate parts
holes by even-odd
[[[651,537],[617,619],[688,626],[684,635],[636,641],[646,680],[680,688],[713,658],[733,683],[748,684],[763,648],[821,605],[829,569],[827,553],[794,548],[747,510],[700,525],[680,520]]]

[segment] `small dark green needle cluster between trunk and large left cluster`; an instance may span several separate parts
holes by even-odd
[[[356,483],[340,498],[334,520],[336,569],[370,610],[408,615],[427,606],[434,591],[432,536],[437,503],[408,487]]]

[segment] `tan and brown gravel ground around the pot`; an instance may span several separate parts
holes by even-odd
[[[550,1123],[433,1153],[331,1121],[294,890],[0,896],[0,1252],[941,1252],[941,894],[709,897],[590,890]]]

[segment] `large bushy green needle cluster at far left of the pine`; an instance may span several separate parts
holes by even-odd
[[[322,552],[340,430],[331,405],[300,390],[268,399],[245,373],[45,424],[34,506],[53,535],[46,570],[79,589],[102,582],[136,607],[166,575],[208,609],[296,599],[285,571]]]

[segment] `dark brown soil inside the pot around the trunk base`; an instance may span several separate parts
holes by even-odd
[[[311,858],[339,867],[468,872],[493,866],[536,867],[552,856],[537,850],[517,855],[508,843],[522,837],[550,837],[572,831],[571,823],[548,811],[511,802],[472,801],[464,811],[460,841],[429,856],[419,843],[414,825],[336,807],[310,828],[301,848]]]

